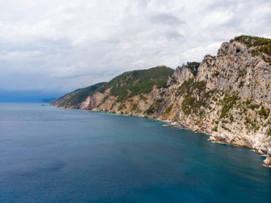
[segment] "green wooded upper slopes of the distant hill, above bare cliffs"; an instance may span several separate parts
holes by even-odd
[[[116,76],[109,82],[94,84],[83,89],[77,89],[71,93],[65,94],[61,98],[53,101],[53,105],[58,107],[74,108],[96,91],[104,93],[106,89],[111,88],[111,95],[118,96],[118,100],[128,99],[137,94],[145,94],[153,89],[165,86],[168,76],[173,74],[174,70],[166,66],[156,66],[151,69],[128,71]]]

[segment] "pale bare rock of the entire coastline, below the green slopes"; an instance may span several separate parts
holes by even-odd
[[[165,120],[210,134],[211,142],[255,149],[271,165],[270,41],[266,49],[257,38],[235,38],[217,56],[178,66],[166,86],[125,98],[107,86],[76,107]]]

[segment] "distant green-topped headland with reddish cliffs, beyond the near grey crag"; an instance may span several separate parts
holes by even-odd
[[[59,108],[144,116],[150,105],[161,97],[160,91],[166,86],[173,72],[173,69],[165,66],[128,71],[108,83],[95,84],[68,93],[53,101],[53,105]]]

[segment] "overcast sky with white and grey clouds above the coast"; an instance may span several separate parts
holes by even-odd
[[[71,91],[271,38],[271,1],[0,0],[0,90]]]

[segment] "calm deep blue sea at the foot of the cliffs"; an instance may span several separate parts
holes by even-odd
[[[270,202],[264,157],[163,124],[0,104],[0,202]]]

